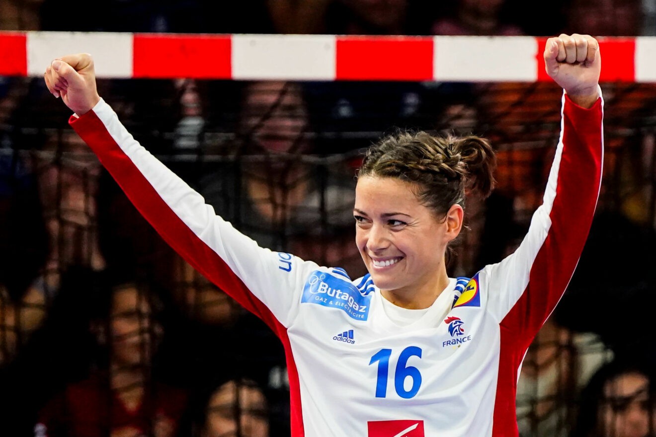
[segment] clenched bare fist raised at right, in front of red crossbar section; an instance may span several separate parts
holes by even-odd
[[[590,35],[565,35],[546,40],[546,73],[565,89],[575,104],[591,107],[599,98],[602,67],[599,43]]]

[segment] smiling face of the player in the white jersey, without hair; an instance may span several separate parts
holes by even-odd
[[[444,254],[460,231],[462,208],[452,206],[440,220],[420,204],[413,188],[396,178],[359,178],[354,208],[356,244],[380,290],[409,300],[424,294],[434,300],[441,292],[436,288],[446,285],[440,282],[446,278]]]

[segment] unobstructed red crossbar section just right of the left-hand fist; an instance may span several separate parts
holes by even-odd
[[[133,77],[230,79],[230,35],[134,34]]]

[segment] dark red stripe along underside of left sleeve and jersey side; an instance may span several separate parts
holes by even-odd
[[[292,437],[303,437],[303,416],[300,402],[300,382],[294,356],[285,328],[271,311],[251,293],[247,286],[203,240],[195,235],[159,193],[136,168],[134,162],[114,142],[105,125],[93,111],[82,117],[71,117],[69,123],[75,132],[97,153],[103,166],[112,174],[139,212],[155,227],[159,235],[188,261],[197,271],[209,278],[245,309],[260,317],[276,333],[287,358],[291,396]],[[163,225],[158,225],[163,223]],[[199,263],[197,260],[202,260]]]

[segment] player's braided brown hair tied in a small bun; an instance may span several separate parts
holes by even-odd
[[[467,191],[487,197],[494,189],[495,165],[495,152],[485,138],[403,131],[369,147],[358,177],[414,183],[420,202],[441,218],[451,205],[464,206]]]

